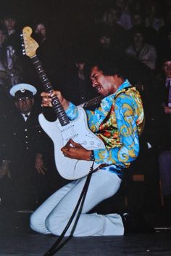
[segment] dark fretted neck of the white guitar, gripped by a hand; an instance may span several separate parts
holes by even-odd
[[[36,55],[34,55],[33,57],[30,57],[30,59],[32,60],[33,65],[36,68],[39,79],[41,79],[43,88],[45,89],[46,92],[51,93],[53,91],[53,88],[51,86],[51,83],[48,77],[46,76],[45,71],[43,70],[40,60],[38,60],[38,57]],[[68,119],[67,114],[65,113],[64,108],[62,107],[58,97],[54,95],[53,97],[51,97],[51,99],[52,99],[51,104],[54,108],[57,118],[59,119],[60,124],[62,126],[69,124],[70,120]]]

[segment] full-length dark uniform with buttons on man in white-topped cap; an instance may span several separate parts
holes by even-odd
[[[29,209],[36,202],[38,172],[36,153],[41,152],[43,131],[38,123],[38,112],[32,110],[27,121],[19,111],[13,110],[6,121],[9,171],[16,207]]]

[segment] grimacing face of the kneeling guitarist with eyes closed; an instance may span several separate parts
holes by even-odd
[[[91,81],[93,88],[103,96],[111,95],[117,90],[114,84],[114,76],[105,76],[98,66],[91,68]]]

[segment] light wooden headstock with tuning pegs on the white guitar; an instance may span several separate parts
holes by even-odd
[[[25,27],[22,29],[22,36],[23,36],[23,47],[22,50],[23,54],[27,55],[28,57],[33,57],[36,55],[36,49],[38,49],[38,43],[31,37],[32,28]]]

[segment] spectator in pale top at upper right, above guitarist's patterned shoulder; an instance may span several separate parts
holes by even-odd
[[[125,52],[133,57],[141,60],[142,63],[147,65],[151,71],[155,70],[157,52],[154,46],[146,44],[146,35],[142,27],[135,28],[133,30],[133,42]]]

